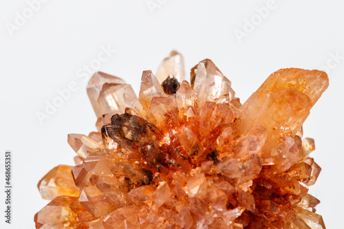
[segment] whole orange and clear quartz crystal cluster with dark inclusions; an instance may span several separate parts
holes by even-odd
[[[325,228],[308,194],[321,168],[302,124],[327,75],[281,69],[244,105],[211,60],[190,82],[178,52],[156,77],[143,72],[138,97],[124,80],[94,74],[98,131],[68,135],[76,166],[39,182],[52,201],[36,228]]]

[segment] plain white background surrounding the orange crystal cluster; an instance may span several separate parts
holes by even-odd
[[[159,7],[149,8],[151,2]],[[50,0],[41,3],[32,17],[28,14],[30,18],[11,36],[9,23],[15,25],[16,12],[23,15],[28,3],[1,1],[0,160],[12,150],[14,183],[13,223],[6,228],[34,228],[34,214],[48,203],[36,188],[39,179],[58,164],[73,164],[75,153],[67,144],[67,133],[95,130],[87,82],[77,72],[98,58],[102,45],[117,52],[99,69],[124,78],[136,92],[142,70],[155,72],[162,58],[176,49],[184,55],[186,74],[202,59],[211,58],[242,102],[277,69],[320,69],[328,64],[330,87],[303,129],[306,137],[315,139],[312,156],[323,168],[310,188],[321,199],[317,212],[327,228],[343,228],[344,3],[276,1],[268,17],[259,21],[255,8],[267,2]],[[245,20],[251,19],[257,20],[255,28],[246,28],[240,43],[235,30],[245,32]],[[72,81],[78,90],[40,124],[37,111],[45,112],[46,102]],[[3,215],[0,228],[5,225]]]

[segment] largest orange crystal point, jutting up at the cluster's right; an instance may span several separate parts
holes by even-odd
[[[328,87],[325,72],[303,69],[281,69],[271,74],[246,100],[237,117],[237,132],[248,133],[259,124],[268,137],[264,157],[286,136],[296,135],[310,114],[310,109]]]

